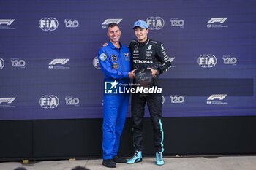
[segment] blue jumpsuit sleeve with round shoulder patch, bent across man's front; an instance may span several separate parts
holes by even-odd
[[[121,70],[114,69],[110,61],[110,57],[100,49],[98,54],[100,69],[106,77],[112,77],[113,79],[129,78],[128,72],[122,72]]]

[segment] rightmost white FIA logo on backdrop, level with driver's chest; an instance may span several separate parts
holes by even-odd
[[[200,67],[206,68],[206,67],[214,67],[217,63],[217,58],[212,54],[203,54],[200,55],[200,57],[197,60],[197,63]]]

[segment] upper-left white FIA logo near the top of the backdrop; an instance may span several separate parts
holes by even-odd
[[[54,31],[56,28],[58,28],[59,22],[56,18],[50,17],[50,18],[42,18],[39,20],[39,28],[42,29],[42,31]]]

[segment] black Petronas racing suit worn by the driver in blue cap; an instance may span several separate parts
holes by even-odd
[[[170,58],[161,42],[147,39],[139,43],[132,40],[129,44],[132,55],[132,69],[143,70],[148,67],[157,69],[157,75],[153,77],[151,86],[159,85],[159,74],[170,68]],[[132,128],[133,146],[135,150],[143,150],[143,117],[145,104],[151,116],[154,129],[154,147],[156,152],[163,152],[164,132],[162,128],[162,93],[133,93],[132,94]]]

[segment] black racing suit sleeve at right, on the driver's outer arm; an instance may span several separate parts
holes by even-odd
[[[157,45],[157,55],[161,63],[157,68],[157,70],[159,71],[159,74],[162,74],[163,72],[167,72],[167,70],[170,69],[171,62],[170,62],[170,58],[168,57],[165,51],[165,47],[164,45],[162,45],[162,43],[159,43]]]

